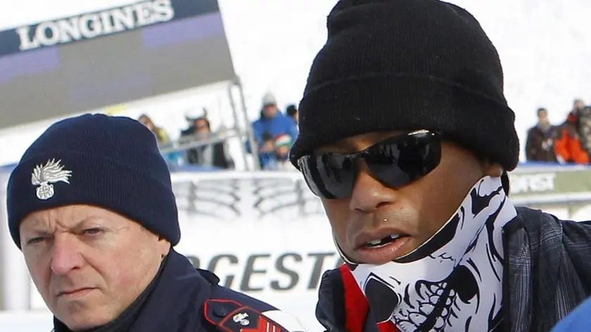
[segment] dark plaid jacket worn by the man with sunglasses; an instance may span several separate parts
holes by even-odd
[[[591,295],[591,222],[517,212],[503,228],[502,331],[547,332]],[[345,332],[342,293],[338,269],[325,272],[316,315],[326,331]],[[363,332],[377,331],[370,312]]]

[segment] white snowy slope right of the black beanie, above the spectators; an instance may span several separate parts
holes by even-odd
[[[497,46],[521,141],[536,108],[561,122],[574,98],[591,103],[591,1],[452,2],[471,11]]]

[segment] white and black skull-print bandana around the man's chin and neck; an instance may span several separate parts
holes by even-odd
[[[348,265],[379,323],[391,320],[404,332],[495,331],[501,319],[502,226],[514,217],[501,179],[484,177],[419,248],[382,265]]]

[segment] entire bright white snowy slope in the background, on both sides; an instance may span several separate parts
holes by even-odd
[[[16,1],[11,11],[0,12],[0,29],[129,2],[133,1],[55,0],[51,5],[43,0]],[[551,120],[560,122],[573,98],[591,103],[591,32],[586,23],[591,1],[452,2],[474,13],[497,46],[504,65],[507,99],[516,112],[522,141],[526,129],[535,122],[539,106],[549,108]],[[299,101],[310,63],[326,40],[324,19],[335,3],[220,0],[234,67],[243,80],[251,119],[258,115],[260,97],[267,90],[274,91],[281,106]],[[157,109],[150,113],[174,136],[185,125],[184,110],[179,106],[167,108],[166,113]],[[220,122],[214,115],[213,125]],[[4,138],[0,132],[0,165],[17,160],[39,131],[37,125],[19,129],[18,139],[14,131]]]

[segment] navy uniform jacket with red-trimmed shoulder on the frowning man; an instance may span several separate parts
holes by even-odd
[[[218,281],[215,274],[195,269],[186,257],[171,250],[136,302],[115,321],[92,332],[274,331],[274,326],[285,331],[261,314],[275,307],[219,286]],[[54,327],[55,332],[70,332],[57,319]]]

